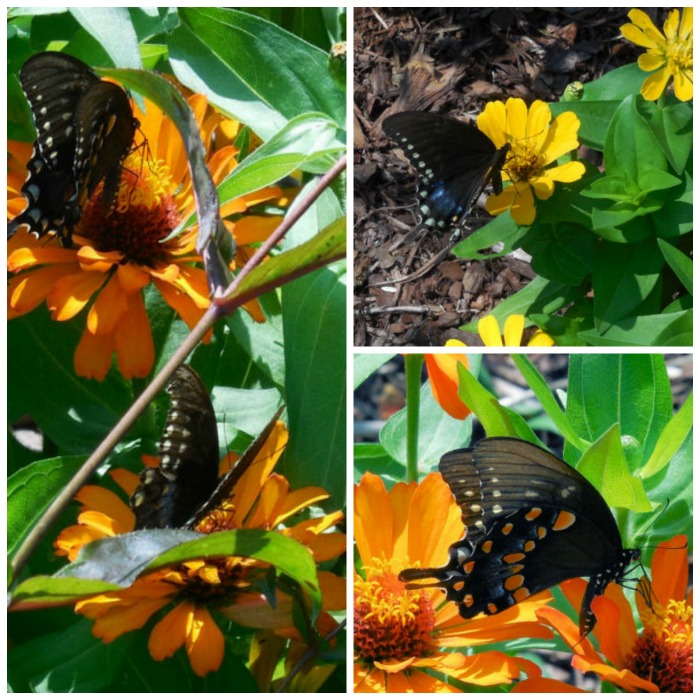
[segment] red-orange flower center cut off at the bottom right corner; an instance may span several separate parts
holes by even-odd
[[[671,601],[658,618],[645,619],[645,630],[627,655],[627,667],[656,683],[662,693],[693,690],[693,609]]]

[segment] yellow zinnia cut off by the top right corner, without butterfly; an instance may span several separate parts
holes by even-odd
[[[642,10],[630,10],[632,24],[620,27],[622,36],[647,52],[637,59],[639,67],[651,72],[642,85],[645,100],[658,100],[673,78],[673,90],[682,102],[693,99],[693,8],[684,7],[683,14],[671,10],[662,34]],[[680,17],[680,21],[679,21]]]

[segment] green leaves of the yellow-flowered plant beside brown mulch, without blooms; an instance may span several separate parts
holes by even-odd
[[[550,105],[554,117],[577,115],[603,172],[584,163],[581,180],[537,201],[532,225],[506,212],[456,247],[477,258],[503,242],[499,256],[532,256],[537,277],[496,307],[500,322],[517,309],[557,345],[692,344],[693,106],[671,95],[646,102],[646,75],[631,64]]]

